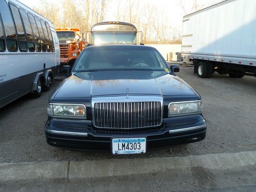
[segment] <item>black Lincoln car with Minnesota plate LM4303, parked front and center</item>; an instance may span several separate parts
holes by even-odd
[[[49,98],[47,142],[136,154],[203,140],[202,99],[178,71],[152,47],[86,48]]]

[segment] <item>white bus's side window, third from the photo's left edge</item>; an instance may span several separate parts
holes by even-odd
[[[18,34],[18,45],[19,45],[19,50],[26,52],[28,51],[27,48],[27,42],[26,42],[26,36],[25,36],[25,30],[23,27],[22,19],[20,19],[20,15],[18,12],[18,8],[12,4],[10,4],[14,24],[16,27],[16,31]]]

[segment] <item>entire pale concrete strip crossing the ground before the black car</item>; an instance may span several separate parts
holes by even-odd
[[[227,170],[255,167],[256,151],[185,157],[0,163],[0,183],[41,179],[97,179],[157,174],[169,170]],[[253,168],[254,170],[254,168]]]

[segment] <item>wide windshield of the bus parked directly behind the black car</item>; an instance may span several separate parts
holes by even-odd
[[[134,32],[93,32],[93,43],[98,44],[136,44]]]

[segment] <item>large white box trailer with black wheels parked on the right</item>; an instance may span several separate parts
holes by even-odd
[[[226,0],[184,16],[182,57],[201,78],[256,76],[256,1]]]

